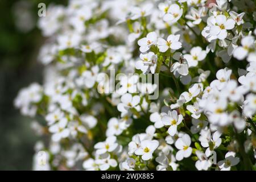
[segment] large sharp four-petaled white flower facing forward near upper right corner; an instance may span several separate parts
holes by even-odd
[[[224,15],[217,15],[216,18],[210,16],[207,22],[210,24],[210,35],[220,40],[224,40],[228,36],[227,30],[232,30],[235,24],[233,19],[226,19]]]

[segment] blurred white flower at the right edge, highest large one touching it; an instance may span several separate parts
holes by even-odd
[[[254,37],[253,36],[245,36],[241,40],[241,45],[238,46],[233,51],[233,56],[236,57],[238,60],[243,60],[250,52],[250,49],[253,49],[255,47],[254,43]]]

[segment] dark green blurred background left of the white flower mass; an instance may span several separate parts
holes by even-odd
[[[44,38],[36,27],[40,2],[0,1],[0,170],[31,170],[34,144],[31,118],[13,106],[19,89],[42,83],[43,65],[37,57]]]

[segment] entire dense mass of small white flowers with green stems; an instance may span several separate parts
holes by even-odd
[[[255,169],[254,7],[250,0],[49,6],[38,23],[47,37],[43,85],[14,101],[44,136],[34,169]],[[159,80],[144,82],[148,75]]]

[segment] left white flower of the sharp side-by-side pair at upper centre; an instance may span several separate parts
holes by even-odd
[[[146,52],[150,49],[151,46],[155,45],[158,39],[156,32],[149,32],[146,38],[138,40],[139,51]]]

